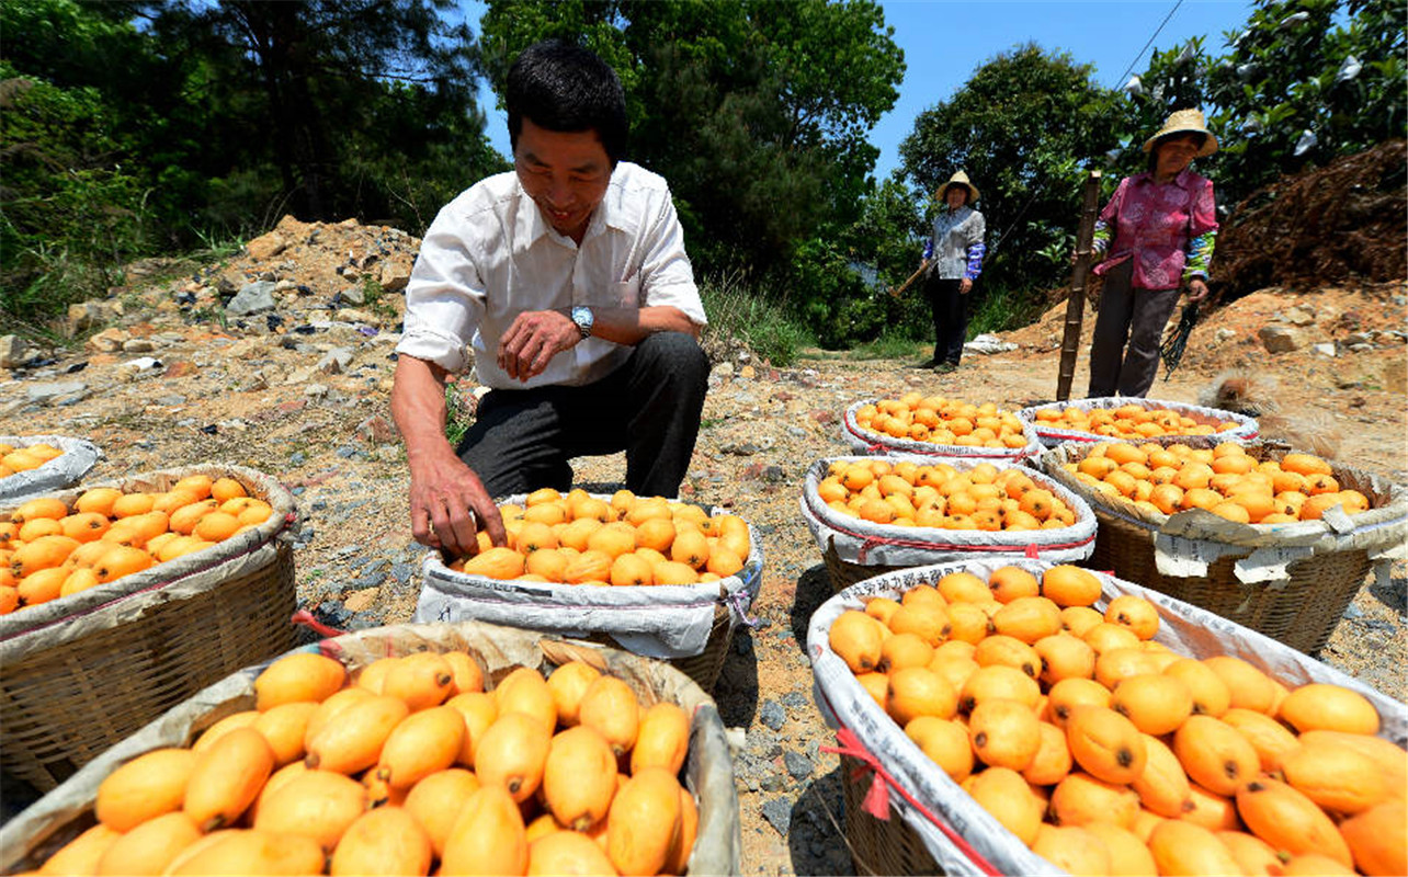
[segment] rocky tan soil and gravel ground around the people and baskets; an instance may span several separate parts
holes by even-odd
[[[298,501],[300,605],[338,628],[407,621],[422,549],[410,539],[389,393],[415,244],[390,228],[286,220],[225,263],[135,266],[130,287],[75,307],[70,331],[86,341],[0,342],[10,369],[0,434],[90,438],[106,453],[92,480],[220,460],[272,473]],[[1405,291],[1395,282],[1243,297],[1200,322],[1153,396],[1195,401],[1222,372],[1249,369],[1288,418],[1335,432],[1342,460],[1408,483]],[[807,465],[848,452],[839,421],[859,398],[918,389],[1007,408],[1050,400],[1063,313],[1001,339],[1015,349],[970,355],[942,377],[819,351],[787,369],[746,353],[715,365],[683,494],[732,507],[766,552],[759,625],[734,642],[717,690],[741,729],[745,873],[853,869],[836,757],[819,750],[834,736],[805,657],[807,621],[832,593],[797,514]],[[1077,396],[1084,383],[1077,370]],[[473,390],[458,384],[466,411]],[[624,469],[620,455],[577,460],[577,483],[615,490]],[[1404,566],[1364,583],[1319,656],[1398,700],[1408,698]]]

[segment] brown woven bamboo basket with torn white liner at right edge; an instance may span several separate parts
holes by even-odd
[[[1332,470],[1342,487],[1359,490],[1370,500],[1370,511],[1350,518],[1364,531],[1363,538],[1335,538],[1333,531],[1318,521],[1243,525],[1224,522],[1201,510],[1171,519],[1145,514],[1122,498],[1091,490],[1062,469],[1062,463],[1079,460],[1087,452],[1087,448],[1064,445],[1038,460],[1048,474],[1090,503],[1095,512],[1100,525],[1087,566],[1112,570],[1121,579],[1231,618],[1307,655],[1325,646],[1376,559],[1395,543],[1401,545],[1408,532],[1408,490],[1347,466],[1332,466]],[[1257,460],[1284,456],[1283,450],[1262,443],[1247,445],[1247,453]],[[1201,541],[1221,543],[1225,552],[1208,563],[1202,574],[1173,574],[1159,569],[1160,545],[1167,545],[1169,553],[1180,550],[1178,538],[1186,538],[1187,532],[1178,529],[1184,518],[1205,521]],[[1178,535],[1171,536],[1171,532]],[[1316,545],[1305,548],[1308,541],[1316,539]],[[1274,555],[1278,541],[1284,541],[1287,550],[1304,555],[1286,564],[1283,577],[1266,581],[1249,579],[1245,572],[1239,574],[1239,567],[1245,569],[1255,552]]]

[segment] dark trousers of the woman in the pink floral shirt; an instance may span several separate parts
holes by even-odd
[[[1090,345],[1090,396],[1145,396],[1159,373],[1159,343],[1178,304],[1178,289],[1131,287],[1133,260],[1105,273]],[[1128,348],[1125,342],[1128,341]]]

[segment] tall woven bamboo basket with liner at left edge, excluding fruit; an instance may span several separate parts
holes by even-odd
[[[165,491],[228,476],[273,514],[206,550],[0,619],[0,769],[46,791],[210,683],[294,645],[293,497],[272,477],[193,466],[108,484]],[[82,491],[56,493],[72,503]]]

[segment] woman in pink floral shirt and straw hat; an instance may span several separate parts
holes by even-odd
[[[1095,273],[1105,286],[1090,346],[1090,397],[1149,393],[1180,291],[1188,290],[1188,301],[1207,298],[1217,206],[1212,182],[1188,165],[1217,151],[1202,111],[1173,113],[1145,142],[1149,169],[1119,180],[1100,211],[1094,249],[1104,260]]]

